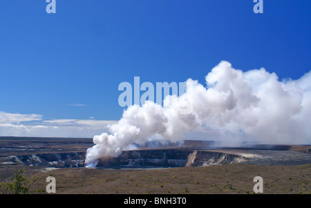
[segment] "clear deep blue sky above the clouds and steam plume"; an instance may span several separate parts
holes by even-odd
[[[46,13],[47,4],[0,3],[6,115],[119,120],[121,82],[191,77],[204,84],[222,60],[241,70],[263,67],[280,79],[311,70],[308,0],[263,0],[263,14],[253,12],[252,0],[56,0],[56,14]]]

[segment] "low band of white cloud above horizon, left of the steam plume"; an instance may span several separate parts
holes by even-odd
[[[93,138],[113,120],[43,120],[43,115],[0,111],[0,136]]]

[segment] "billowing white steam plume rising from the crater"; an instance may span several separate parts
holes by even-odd
[[[183,140],[182,133],[199,126],[207,132],[207,140],[216,137],[230,144],[311,143],[311,71],[280,82],[264,68],[243,72],[223,61],[205,79],[207,87],[188,79],[193,90],[166,97],[164,103],[175,101],[168,107],[154,102],[129,106],[121,120],[109,126],[111,134],[95,135],[95,146],[86,152],[86,167],[96,166],[104,156],[117,157],[133,142],[144,144],[154,137]],[[193,109],[181,114],[187,102]]]

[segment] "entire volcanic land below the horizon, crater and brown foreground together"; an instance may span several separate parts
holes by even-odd
[[[0,182],[23,169],[38,177],[32,190],[41,193],[48,176],[55,177],[57,193],[254,193],[253,179],[261,176],[264,193],[311,193],[308,145],[234,148],[187,140],[140,146],[86,169],[91,146],[84,138],[0,138]]]

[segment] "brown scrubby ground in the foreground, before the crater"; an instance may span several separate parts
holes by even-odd
[[[303,168],[302,168],[303,167]],[[13,166],[0,166],[3,173]],[[44,192],[46,177],[57,180],[57,193],[254,193],[253,179],[263,177],[263,193],[310,193],[311,164],[269,166],[227,164],[214,167],[182,167],[169,169],[55,169],[48,173],[37,167],[23,167],[28,177],[38,176],[30,193]],[[226,171],[227,169],[227,171]],[[301,174],[295,173],[299,169]],[[236,171],[239,173],[236,174]],[[303,177],[304,175],[304,177]],[[2,179],[1,179],[2,176]],[[292,178],[292,180],[289,180]],[[82,185],[83,184],[83,185]]]

